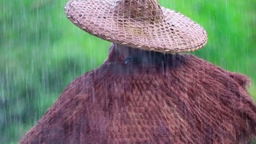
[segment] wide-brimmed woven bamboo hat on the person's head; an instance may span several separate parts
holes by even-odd
[[[158,0],[71,0],[67,18],[110,42],[162,53],[190,52],[206,45],[206,30]]]

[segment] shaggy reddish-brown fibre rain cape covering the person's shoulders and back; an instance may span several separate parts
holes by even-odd
[[[113,56],[116,54],[113,54]],[[110,55],[111,57],[111,55]],[[245,143],[249,80],[192,55],[177,65],[106,62],[77,78],[21,143]]]

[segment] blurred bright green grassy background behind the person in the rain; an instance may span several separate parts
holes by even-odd
[[[194,54],[248,75],[256,100],[256,2],[160,1],[206,28]],[[16,143],[79,75],[102,64],[110,42],[86,34],[64,14],[66,1],[3,0],[0,5],[0,139]]]

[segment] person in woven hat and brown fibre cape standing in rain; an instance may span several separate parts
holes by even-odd
[[[186,53],[206,30],[157,0],[71,0],[76,26],[113,42],[21,143],[245,143],[256,136],[249,79]]]

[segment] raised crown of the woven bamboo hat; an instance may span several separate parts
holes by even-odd
[[[124,15],[135,21],[158,22],[162,19],[158,0],[123,0],[119,5]]]

